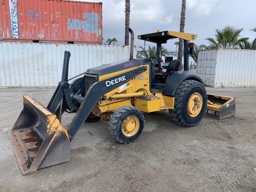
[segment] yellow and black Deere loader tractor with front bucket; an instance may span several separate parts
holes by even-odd
[[[8,132],[23,174],[69,161],[70,142],[84,121],[109,121],[109,130],[115,140],[131,143],[143,131],[142,112],[168,109],[177,124],[190,127],[201,121],[208,107],[223,111],[218,98],[216,101],[208,98],[207,104],[202,79],[188,71],[188,54],[193,52],[193,44],[189,41],[195,40],[196,34],[162,31],[139,35],[139,39],[156,42],[158,58],[134,59],[134,33],[131,29],[130,32],[130,59],[88,69],[83,77],[69,83],[71,54],[65,51],[62,78],[48,106],[45,108],[30,96],[23,96],[24,109]],[[180,63],[173,60],[163,72],[160,47],[174,38],[184,39],[184,71],[178,71]],[[229,106],[234,106],[234,100],[225,106],[226,117],[234,114],[234,108]],[[65,112],[76,113],[68,129],[60,123]]]

